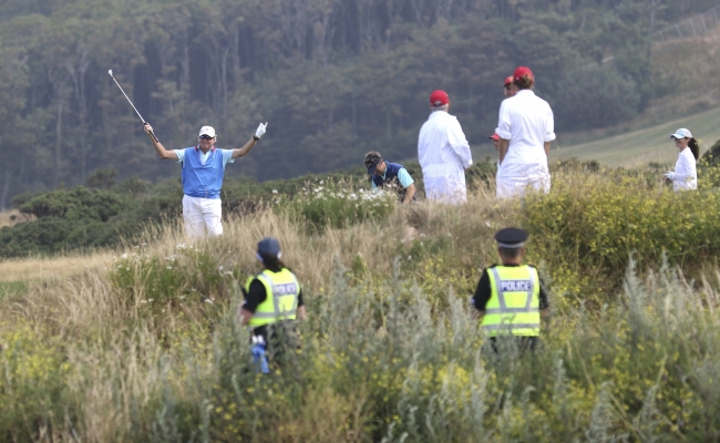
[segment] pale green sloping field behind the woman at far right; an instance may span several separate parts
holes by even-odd
[[[668,121],[667,123],[639,131],[627,132],[594,142],[572,146],[557,145],[551,150],[551,161],[576,157],[596,159],[607,166],[642,166],[649,162],[673,163],[677,151],[670,141],[679,127],[687,127],[709,148],[720,140],[720,109]]]

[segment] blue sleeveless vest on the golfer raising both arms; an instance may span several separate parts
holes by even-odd
[[[215,148],[207,158],[207,163],[200,163],[200,156],[196,147],[185,148],[183,161],[183,192],[191,197],[220,198],[225,165],[223,153]]]

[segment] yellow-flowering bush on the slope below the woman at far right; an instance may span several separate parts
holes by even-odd
[[[720,195],[673,193],[654,182],[623,171],[556,175],[549,194],[523,202],[533,259],[546,260],[556,282],[583,298],[617,290],[630,254],[641,269],[664,254],[690,272],[701,269],[720,253]]]

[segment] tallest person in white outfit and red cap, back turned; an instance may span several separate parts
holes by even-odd
[[[547,156],[555,140],[553,110],[535,95],[535,78],[529,68],[520,66],[513,74],[517,94],[503,100],[495,133],[500,136],[500,166],[496,194],[508,198],[525,193],[527,186],[551,189]]]

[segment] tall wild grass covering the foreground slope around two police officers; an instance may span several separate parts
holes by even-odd
[[[481,187],[462,206],[393,206],[384,218],[319,233],[267,208],[226,222],[222,238],[189,243],[171,224],[110,257],[88,256],[89,266],[61,281],[0,299],[0,433],[96,442],[717,440],[720,272],[699,266],[716,253],[677,260],[640,243],[628,259],[623,248],[637,245],[598,234],[589,212],[593,202],[627,205],[645,215],[610,220],[639,224],[655,239],[654,210],[677,220],[670,234],[692,230],[671,210],[685,203],[642,177],[606,172],[558,172],[548,196],[523,202],[492,194]],[[713,196],[686,197],[710,216]],[[644,213],[638,205],[649,198],[656,206]],[[494,233],[520,223],[534,233],[529,259],[544,260],[554,312],[539,351],[503,342],[495,354],[466,300],[496,260]],[[264,236],[280,239],[309,313],[302,349],[270,375],[255,373],[235,319]],[[570,256],[576,246],[566,239],[616,245],[613,257],[624,258],[605,249]],[[568,285],[583,272],[596,272],[609,293]]]

